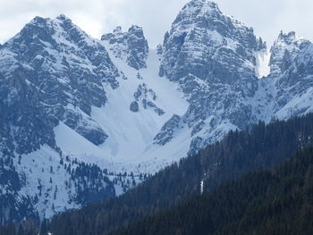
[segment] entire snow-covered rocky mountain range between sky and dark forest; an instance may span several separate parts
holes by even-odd
[[[312,56],[294,32],[267,50],[207,0],[157,49],[138,26],[95,39],[36,17],[0,46],[0,223],[114,197],[228,130],[311,112]]]

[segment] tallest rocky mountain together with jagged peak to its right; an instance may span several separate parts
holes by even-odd
[[[155,144],[162,149],[180,139],[193,155],[229,130],[310,112],[310,46],[294,32],[281,32],[268,52],[253,29],[217,4],[190,1],[159,46],[160,75],[180,85],[190,106],[165,123]]]

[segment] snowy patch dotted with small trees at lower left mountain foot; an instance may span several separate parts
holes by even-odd
[[[17,158],[14,160],[17,172],[23,176],[21,179],[26,179],[26,185],[21,188],[20,194],[34,201],[35,197],[38,197],[38,202],[35,204],[41,219],[50,218],[66,209],[78,208],[77,204],[71,201],[75,192],[65,185],[65,180],[69,180],[71,175],[60,166],[60,156],[55,150],[42,146],[36,152],[21,155],[21,164],[17,163]],[[52,172],[50,172],[51,167]],[[39,186],[41,186],[41,195],[38,193]],[[35,187],[37,189],[34,189]]]

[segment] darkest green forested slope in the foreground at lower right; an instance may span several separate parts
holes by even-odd
[[[313,148],[111,235],[313,234]]]

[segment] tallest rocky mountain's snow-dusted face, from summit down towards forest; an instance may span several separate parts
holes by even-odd
[[[220,135],[216,130],[222,126],[229,130],[255,122],[248,100],[258,90],[255,55],[265,48],[253,29],[221,13],[217,4],[206,0],[186,4],[158,48],[160,75],[177,82],[189,97],[181,128],[194,129],[193,138],[196,132],[206,132],[202,142],[207,144]],[[173,132],[166,125],[165,130]],[[163,145],[162,138],[168,136],[158,134],[156,143]],[[203,146],[199,138],[197,146]]]

